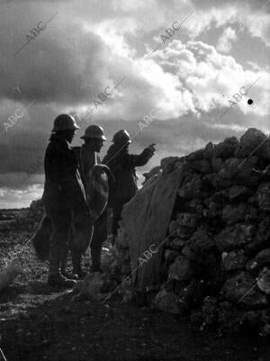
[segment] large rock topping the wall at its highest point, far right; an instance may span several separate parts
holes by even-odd
[[[266,151],[266,134],[255,128],[248,128],[245,134],[240,138],[235,157],[246,158],[252,152],[260,156]]]

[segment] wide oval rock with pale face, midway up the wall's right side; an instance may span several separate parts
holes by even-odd
[[[226,227],[216,237],[216,245],[220,252],[229,252],[237,248],[243,248],[254,238],[256,227],[250,224],[238,223]]]

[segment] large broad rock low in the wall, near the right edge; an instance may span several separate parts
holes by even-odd
[[[231,303],[244,304],[248,308],[262,308],[268,304],[267,297],[256,285],[256,279],[240,272],[229,278],[222,287],[221,294]]]

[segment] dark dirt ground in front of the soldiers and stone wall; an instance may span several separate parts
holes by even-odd
[[[30,236],[1,233],[1,268]],[[46,285],[47,265],[31,247],[22,266],[24,275],[0,294],[0,347],[7,361],[270,361],[269,338],[194,331],[186,318],[118,298],[71,302],[71,293]]]

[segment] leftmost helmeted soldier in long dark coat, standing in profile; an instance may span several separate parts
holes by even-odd
[[[76,151],[70,145],[77,129],[79,127],[72,116],[58,115],[45,153],[42,202],[51,223],[48,284],[52,286],[69,287],[76,283],[62,275],[60,265],[67,255],[73,214],[88,212]]]

